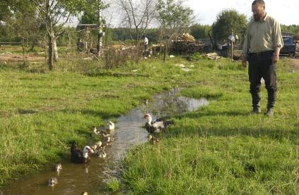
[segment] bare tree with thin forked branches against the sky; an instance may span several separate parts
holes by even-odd
[[[128,27],[130,39],[135,46],[140,45],[140,39],[156,16],[156,1],[154,0],[118,0],[125,17],[123,23]],[[136,34],[133,39],[133,31]]]

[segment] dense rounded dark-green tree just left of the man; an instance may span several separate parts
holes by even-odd
[[[235,10],[224,10],[217,15],[216,22],[212,25],[212,34],[215,42],[223,42],[228,39],[232,30],[238,37],[244,37],[246,29],[247,20],[244,14]]]

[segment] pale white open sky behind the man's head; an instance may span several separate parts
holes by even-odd
[[[186,0],[196,15],[196,22],[202,25],[212,25],[216,15],[224,9],[233,8],[250,18],[253,0]],[[299,0],[264,0],[266,12],[283,25],[299,25]]]

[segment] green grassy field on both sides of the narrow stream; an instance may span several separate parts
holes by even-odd
[[[191,71],[181,70],[181,63]],[[185,96],[209,98],[209,106],[174,116],[175,125],[159,144],[132,149],[123,161],[122,182],[112,182],[112,189],[131,194],[299,193],[299,73],[291,71],[297,66],[288,59],[278,64],[272,118],[250,114],[247,68],[226,59],[147,60],[114,70],[102,70],[92,61],[62,60],[53,73],[30,73],[18,64],[0,67],[2,185],[68,158],[68,143],[85,143],[92,126],[178,85]],[[263,88],[263,111],[266,99]]]

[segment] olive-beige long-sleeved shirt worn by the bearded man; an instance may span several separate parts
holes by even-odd
[[[277,20],[266,13],[262,21],[250,20],[243,44],[243,55],[283,47],[281,27]]]

